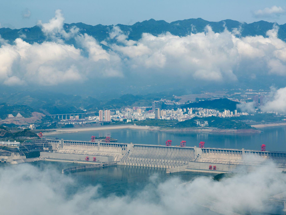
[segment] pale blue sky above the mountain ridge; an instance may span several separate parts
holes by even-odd
[[[151,18],[171,22],[198,17],[208,21],[233,19],[247,23],[259,20],[286,23],[286,2],[281,0],[2,0],[0,5],[1,27],[10,28],[31,27],[38,20],[47,22],[54,16],[56,9],[62,10],[66,23],[83,22],[91,25],[134,24]]]

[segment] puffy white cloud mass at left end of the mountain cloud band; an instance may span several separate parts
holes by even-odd
[[[90,56],[84,57],[82,50],[73,45],[57,42],[29,44],[18,38],[14,45],[5,44],[0,48],[0,78],[7,85],[11,85],[11,77],[12,80],[17,77],[18,83],[22,80],[40,85],[57,85],[83,81],[87,75],[121,76],[120,72],[116,73],[116,65],[112,65],[117,63],[116,56],[110,57],[96,43],[85,40],[82,43],[84,46],[89,45],[92,50]]]

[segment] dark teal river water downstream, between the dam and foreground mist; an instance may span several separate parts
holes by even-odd
[[[31,165],[40,170],[56,169],[59,173],[67,167],[75,166],[71,163],[63,162],[34,162]],[[78,164],[82,165],[82,164]],[[186,182],[195,179],[198,176],[213,177],[215,174],[180,172],[166,174],[166,169],[152,167],[135,166],[111,166],[106,168],[94,168],[87,171],[74,171],[65,174],[75,180],[77,186],[69,187],[68,193],[74,194],[80,189],[88,186],[98,186],[100,196],[107,197],[110,194],[116,196],[134,196],[140,192],[146,185],[157,185],[169,179],[179,179]],[[174,184],[179,185],[179,184]]]

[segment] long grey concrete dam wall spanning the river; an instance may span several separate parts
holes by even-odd
[[[272,160],[279,171],[286,170],[286,152],[245,149],[163,146],[132,143],[46,139],[53,152],[41,152],[40,159],[74,163],[117,162],[118,165],[160,167],[167,173],[179,171],[252,171]],[[243,168],[242,168],[243,167]]]

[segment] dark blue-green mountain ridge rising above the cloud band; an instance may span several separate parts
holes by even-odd
[[[176,36],[186,36],[192,33],[203,32],[204,28],[209,25],[212,27],[214,32],[223,32],[225,28],[232,31],[233,28],[241,29],[241,36],[255,36],[262,35],[266,36],[266,32],[273,28],[273,25],[276,24],[279,27],[278,38],[285,40],[286,39],[286,24],[278,25],[277,23],[267,22],[267,21],[258,21],[250,24],[241,23],[239,21],[226,19],[218,22],[206,21],[201,18],[197,19],[184,19],[173,21],[168,23],[164,20],[154,20],[149,19],[142,22],[136,22],[133,25],[122,25],[117,24],[116,26],[124,32],[129,32],[128,39],[139,40],[142,36],[142,33],[150,33],[152,35],[159,35],[164,32],[170,32]],[[98,24],[96,26],[87,25],[84,23],[72,23],[64,24],[66,30],[71,29],[73,26],[76,26],[80,29],[81,34],[88,34],[93,36],[101,42],[109,36],[110,30],[112,30],[113,25],[104,26]],[[34,26],[31,28],[21,28],[21,29],[10,29],[10,28],[0,28],[0,35],[3,39],[8,40],[10,43],[13,42],[16,38],[19,38],[22,35],[22,39],[26,42],[33,43],[38,42],[42,43],[47,40],[46,36],[41,31],[39,26]],[[23,36],[25,35],[25,36]],[[74,44],[73,39],[67,41],[69,44]]]

